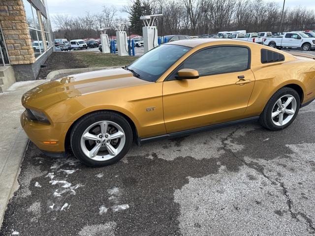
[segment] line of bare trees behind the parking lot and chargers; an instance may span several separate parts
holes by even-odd
[[[245,29],[248,32],[279,32],[282,5],[268,0],[131,0],[120,9],[128,19],[118,17],[114,7],[103,6],[100,13],[80,17],[56,15],[52,22],[56,38],[99,37],[100,29],[130,22],[128,31],[142,35],[141,15],[163,14],[156,25],[158,35],[202,35]],[[284,8],[282,31],[315,29],[315,11],[306,7]],[[129,32],[128,32],[129,33]]]

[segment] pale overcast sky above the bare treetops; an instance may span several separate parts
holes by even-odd
[[[281,7],[284,0],[274,0],[279,2]],[[80,16],[85,12],[91,14],[100,12],[102,6],[114,5],[117,9],[121,9],[127,5],[130,0],[47,0],[50,16],[56,14],[67,14],[70,16]],[[286,7],[305,6],[315,10],[315,0],[285,0]],[[126,13],[118,12],[122,17],[127,17]]]

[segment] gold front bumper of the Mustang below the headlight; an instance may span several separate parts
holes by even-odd
[[[49,156],[60,155],[65,151],[65,136],[71,124],[72,122],[44,124],[32,121],[26,111],[21,115],[21,125],[27,136],[43,152],[53,153]],[[44,142],[56,142],[56,144],[45,144]]]

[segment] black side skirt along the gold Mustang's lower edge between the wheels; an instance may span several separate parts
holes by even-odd
[[[188,134],[193,134],[193,133],[198,133],[198,132],[203,132],[203,131],[209,131],[209,130],[218,129],[218,128],[231,126],[231,125],[235,125],[235,124],[243,123],[243,122],[248,122],[248,121],[252,121],[252,120],[257,120],[257,119],[259,119],[259,116],[228,121],[228,122],[224,122],[224,123],[220,123],[220,124],[208,125],[208,126],[204,126],[204,127],[200,127],[200,128],[188,129],[188,130],[184,130],[184,131],[154,136],[154,137],[150,137],[150,138],[141,139],[141,137],[138,137],[137,144],[140,146],[143,143],[148,143],[151,141],[177,138],[177,137],[181,137],[181,136],[188,135]]]

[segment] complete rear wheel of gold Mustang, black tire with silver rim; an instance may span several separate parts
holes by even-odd
[[[285,107],[285,102],[288,101],[286,99],[292,99],[290,103],[288,103],[287,107]],[[282,105],[278,102],[282,101]],[[279,105],[282,107],[279,110]],[[259,116],[260,124],[270,130],[282,130],[289,126],[294,119],[296,118],[297,114],[299,113],[301,101],[300,96],[296,90],[284,87],[279,89],[268,101],[267,105],[265,106],[263,112]],[[294,113],[292,114],[292,112]],[[279,115],[272,118],[272,114]],[[290,115],[289,115],[290,114]],[[281,116],[283,121],[281,121]],[[277,121],[278,119],[278,121]]]

